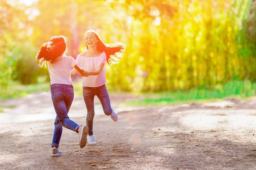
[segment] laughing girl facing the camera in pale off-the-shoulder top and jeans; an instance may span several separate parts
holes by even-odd
[[[86,77],[83,77],[83,99],[87,108],[86,123],[89,128],[87,142],[90,145],[96,145],[92,125],[94,118],[94,96],[96,95],[103,107],[105,115],[117,121],[118,117],[111,108],[108,90],[106,88],[106,68],[105,63],[116,64],[124,54],[126,46],[121,42],[114,44],[105,44],[98,33],[94,30],[88,30],[85,33],[86,51],[83,51],[76,57],[76,61],[86,71]],[[74,69],[72,75],[75,74]]]

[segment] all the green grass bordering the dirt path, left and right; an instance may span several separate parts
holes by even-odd
[[[82,95],[82,83],[74,82],[74,93]],[[216,101],[225,98],[247,99],[256,96],[256,83],[249,81],[232,80],[225,85],[219,85],[214,88],[198,87],[186,90],[167,91],[160,93],[136,93],[136,96],[144,96],[136,101],[125,102],[126,106],[152,106],[152,105],[170,105],[183,103],[201,103],[206,101]],[[49,82],[40,82],[38,84],[21,85],[13,82],[8,89],[2,91],[0,101],[12,98],[25,97],[29,93],[38,91],[49,91]],[[109,94],[115,94],[115,91],[109,91]],[[118,92],[120,93],[120,92]],[[1,112],[1,109],[0,109]]]

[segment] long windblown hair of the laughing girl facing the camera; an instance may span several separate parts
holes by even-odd
[[[87,33],[95,34],[96,39],[98,40],[97,51],[101,51],[101,52],[104,51],[106,53],[108,64],[110,65],[116,64],[123,57],[124,51],[126,50],[126,46],[123,43],[116,42],[113,44],[106,44],[101,40],[101,38],[99,37],[99,34],[96,31],[92,29],[86,31],[85,37]],[[86,40],[85,40],[85,46],[86,46],[86,49],[88,49]]]

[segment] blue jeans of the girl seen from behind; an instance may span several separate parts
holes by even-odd
[[[76,124],[76,122],[70,120],[67,115],[74,99],[73,86],[67,84],[52,84],[51,94],[54,110],[57,115],[54,121],[52,147],[56,146],[58,148],[58,144],[61,140],[62,126],[75,132],[80,126]]]

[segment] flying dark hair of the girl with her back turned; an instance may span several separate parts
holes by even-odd
[[[36,54],[36,60],[39,66],[46,66],[45,61],[54,63],[55,59],[61,55],[67,54],[67,38],[63,35],[54,36],[48,42],[40,47]]]

